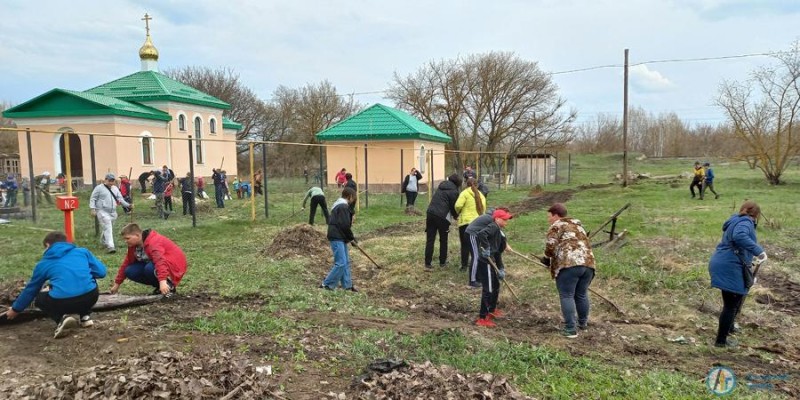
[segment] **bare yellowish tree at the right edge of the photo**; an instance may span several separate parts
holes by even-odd
[[[773,185],[782,183],[781,175],[800,150],[794,132],[800,111],[800,42],[776,54],[775,60],[744,82],[723,82],[717,99],[745,143],[740,155],[754,161]]]

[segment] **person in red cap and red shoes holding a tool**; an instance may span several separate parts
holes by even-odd
[[[503,313],[497,309],[497,299],[500,297],[500,280],[505,278],[502,253],[510,248],[505,240],[502,229],[513,218],[508,209],[498,208],[492,214],[483,214],[475,218],[467,227],[470,243],[475,251],[473,274],[475,280],[481,283],[481,305],[478,326],[494,327],[492,319],[501,317]],[[475,254],[477,253],[477,254]],[[494,266],[491,264],[494,263]],[[495,269],[497,267],[497,269]]]

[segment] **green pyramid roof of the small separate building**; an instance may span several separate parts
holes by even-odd
[[[375,104],[317,133],[320,141],[421,139],[450,143],[452,139],[404,111]]]

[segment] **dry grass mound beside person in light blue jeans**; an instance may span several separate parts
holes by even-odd
[[[278,232],[272,243],[261,250],[261,254],[280,260],[291,257],[327,260],[331,255],[331,246],[324,233],[311,225],[300,224]]]

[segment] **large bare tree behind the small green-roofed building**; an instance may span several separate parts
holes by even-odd
[[[406,77],[395,73],[387,97],[449,135],[452,149],[514,152],[572,139],[576,113],[564,112],[557,92],[537,63],[492,52],[431,61]],[[460,154],[453,163],[463,165]]]

